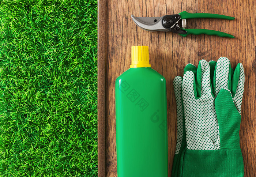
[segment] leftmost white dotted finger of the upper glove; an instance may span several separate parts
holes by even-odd
[[[182,99],[183,102],[191,99],[195,99],[196,86],[195,75],[192,71],[187,71],[182,80]]]

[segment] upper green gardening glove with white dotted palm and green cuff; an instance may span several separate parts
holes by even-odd
[[[244,173],[239,146],[244,69],[238,64],[233,72],[224,57],[218,60],[215,71],[210,72],[214,65],[215,62],[201,60],[196,78],[195,72],[187,71],[182,80],[186,146],[181,150],[179,164],[176,163],[181,176],[243,176]],[[177,80],[180,82],[181,78],[174,79]]]

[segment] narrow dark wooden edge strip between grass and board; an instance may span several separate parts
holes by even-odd
[[[107,0],[98,0],[98,176],[106,176]]]

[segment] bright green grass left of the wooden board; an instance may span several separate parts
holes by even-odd
[[[97,0],[0,0],[0,176],[97,176]]]

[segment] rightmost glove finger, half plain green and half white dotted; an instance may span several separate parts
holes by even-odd
[[[233,89],[234,88],[234,89]],[[241,112],[242,97],[244,94],[244,67],[242,63],[238,64],[232,78],[232,95],[236,108]]]

